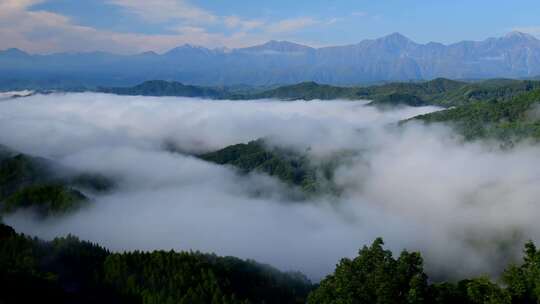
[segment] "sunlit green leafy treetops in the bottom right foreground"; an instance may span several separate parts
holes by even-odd
[[[510,304],[540,301],[540,251],[525,245],[522,265],[510,265],[501,284],[486,277],[429,283],[419,253],[401,252],[396,259],[382,239],[364,246],[354,259],[342,259],[321,281],[308,303],[463,303]],[[504,286],[504,287],[503,287]]]

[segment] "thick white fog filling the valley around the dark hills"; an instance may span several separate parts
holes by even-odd
[[[378,236],[395,253],[420,250],[435,278],[493,274],[524,241],[540,240],[540,147],[502,150],[464,143],[444,126],[397,125],[435,110],[93,93],[3,101],[1,144],[117,182],[74,214],[4,220],[47,239],[71,233],[112,250],[215,252],[315,281]],[[277,179],[193,156],[257,138],[313,162],[356,152],[335,172],[344,191],[299,201]]]

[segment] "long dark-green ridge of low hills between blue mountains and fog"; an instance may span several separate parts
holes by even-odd
[[[338,87],[303,82],[262,91],[252,89],[252,92],[249,89],[235,91],[155,80],[134,87],[100,88],[98,91],[120,95],[184,96],[232,100],[371,100],[371,105],[383,107],[395,105],[451,107],[476,101],[508,100],[538,88],[540,88],[540,81],[492,79],[469,83],[438,78],[426,82],[396,82],[367,87]]]

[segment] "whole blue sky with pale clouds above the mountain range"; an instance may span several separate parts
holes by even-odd
[[[0,0],[0,49],[165,52],[182,44],[314,47],[400,32],[426,43],[540,36],[537,0]]]

